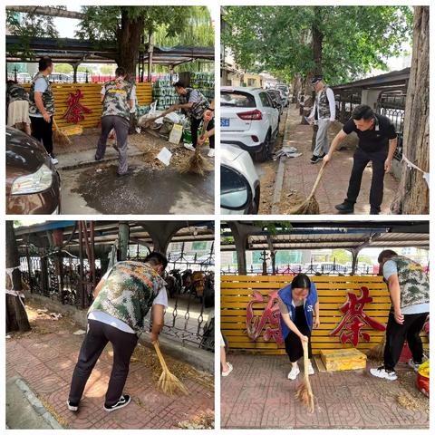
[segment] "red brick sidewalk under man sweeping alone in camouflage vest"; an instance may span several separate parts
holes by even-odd
[[[66,399],[84,336],[73,334],[80,328],[68,317],[53,321],[30,307],[27,311],[33,331],[13,334],[6,340],[6,380],[23,379],[64,428],[179,429],[189,427],[190,421],[193,424],[198,420],[212,420],[213,377],[168,358],[169,370],[179,376],[190,394],[167,397],[156,389],[161,372],[158,359],[144,346],[133,354],[125,387],[131,394],[131,404],[110,413],[102,408],[112,361],[111,347],[107,346],[88,381],[80,411],[68,411]]]

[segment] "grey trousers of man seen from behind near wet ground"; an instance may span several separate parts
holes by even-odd
[[[108,115],[102,117],[102,135],[98,140],[95,159],[101,160],[106,152],[106,143],[111,130],[116,133],[116,146],[118,148],[118,173],[123,174],[129,169],[127,163],[127,139],[129,137],[130,121],[122,116]]]

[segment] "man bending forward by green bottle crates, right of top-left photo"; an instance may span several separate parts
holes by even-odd
[[[192,134],[192,146],[185,145],[185,147],[194,151],[198,145],[199,125],[203,120],[204,112],[209,109],[210,104],[201,92],[197,89],[188,88],[184,82],[174,83],[174,88],[175,92],[179,94],[179,104],[173,104],[162,115],[167,115],[172,111],[183,111],[190,120],[190,132]],[[208,122],[207,131],[213,128],[213,122]]]

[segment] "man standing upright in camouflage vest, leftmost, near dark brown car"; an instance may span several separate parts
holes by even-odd
[[[54,95],[48,76],[53,73],[53,61],[48,56],[39,60],[39,72],[34,76],[29,92],[29,117],[32,136],[43,141],[43,147],[50,154],[52,162],[58,163],[53,154]]]

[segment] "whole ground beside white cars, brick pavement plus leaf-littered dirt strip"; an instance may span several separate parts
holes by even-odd
[[[285,115],[282,116],[283,121]],[[266,199],[263,205],[264,213],[286,213],[288,208],[293,205],[291,197],[296,192],[302,198],[308,197],[314,186],[314,181],[322,163],[315,165],[310,163],[313,155],[311,150],[311,140],[313,136],[313,127],[310,125],[301,125],[301,116],[299,110],[291,104],[287,109],[287,118],[283,146],[295,147],[302,156],[294,159],[286,159],[284,162],[284,181],[279,199],[276,202],[275,210],[271,199]],[[335,122],[329,131],[329,141],[333,140],[334,135],[341,129],[341,125]],[[334,208],[336,204],[343,202],[349,184],[351,170],[353,166],[353,152],[355,140],[348,138],[342,150],[338,150],[333,155],[333,160],[324,170],[324,177],[320,182],[319,188],[315,193],[315,198],[319,203],[321,214],[337,214]],[[280,146],[278,146],[280,148]],[[279,180],[276,177],[278,171],[277,162],[266,162],[258,165],[260,176],[262,196],[267,192],[268,198],[273,197]],[[272,175],[271,175],[272,173]],[[362,176],[362,186],[358,201],[355,205],[355,215],[367,215],[370,213],[369,193],[372,182],[372,168],[366,168]],[[382,202],[382,214],[388,214],[393,196],[398,189],[399,182],[391,174],[386,174],[384,179],[384,195]],[[264,200],[264,198],[262,198]]]

